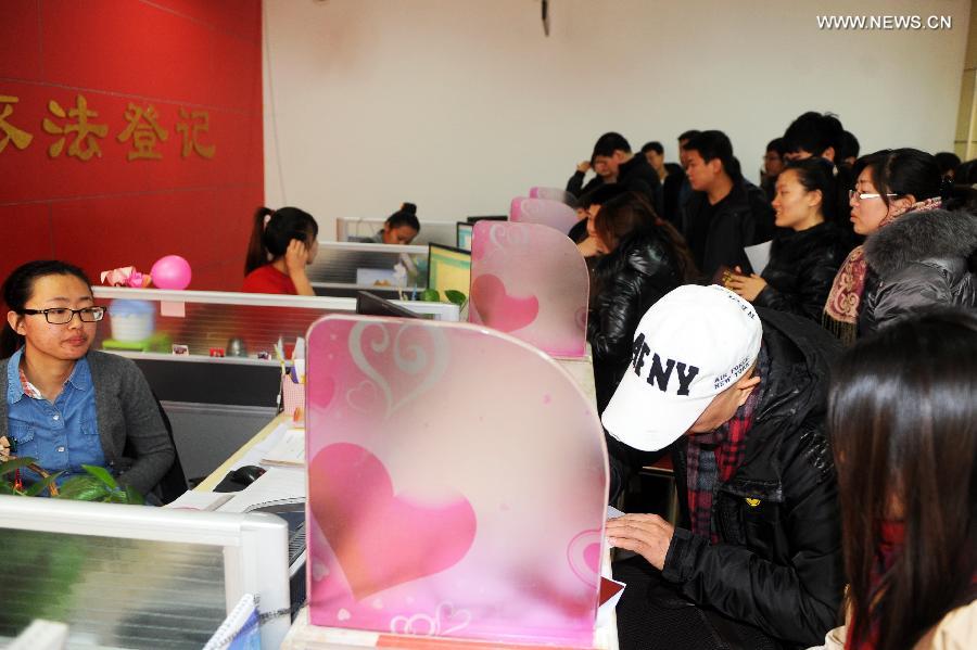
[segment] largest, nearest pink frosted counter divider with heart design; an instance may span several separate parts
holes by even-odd
[[[332,315],[308,341],[310,622],[591,647],[607,453],[570,375],[468,323]]]

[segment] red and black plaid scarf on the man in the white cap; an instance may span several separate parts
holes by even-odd
[[[763,393],[763,380],[767,370],[767,357],[763,347],[757,360],[753,377],[760,384],[739,407],[733,419],[713,431],[687,436],[687,492],[691,532],[719,543],[712,526],[712,499],[720,483],[725,483],[743,463],[746,451],[746,434],[753,425],[753,415]]]

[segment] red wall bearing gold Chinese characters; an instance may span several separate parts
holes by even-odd
[[[177,254],[193,269],[189,289],[238,290],[264,196],[261,38],[261,0],[3,0],[0,115],[12,112],[0,119],[0,278],[53,257],[98,282],[99,271],[148,272]],[[78,148],[97,143],[87,161],[69,155],[76,132],[50,150],[62,137],[50,130],[79,123],[51,102],[68,112],[78,95],[105,128]],[[119,140],[130,104],[155,110],[165,141],[139,126],[153,133],[143,151],[160,157],[129,160],[136,135],[143,141],[142,130]],[[200,112],[208,130],[194,148]],[[21,149],[10,127],[33,139]]]

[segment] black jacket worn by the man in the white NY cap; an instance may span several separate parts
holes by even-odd
[[[824,434],[828,367],[840,344],[809,320],[757,311],[770,370],[743,464],[716,488],[720,541],[689,531],[687,444],[678,438],[670,450],[681,515],[662,576],[702,608],[807,648],[835,626],[845,587],[838,489]],[[611,457],[619,484],[627,469],[622,458]]]

